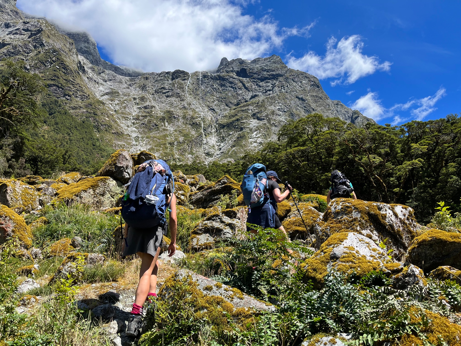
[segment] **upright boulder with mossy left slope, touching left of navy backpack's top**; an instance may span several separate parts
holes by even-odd
[[[96,173],[96,177],[111,177],[122,184],[128,183],[134,175],[133,159],[126,150],[117,150]]]

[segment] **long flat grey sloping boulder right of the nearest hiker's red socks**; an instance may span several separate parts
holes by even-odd
[[[201,292],[204,296],[222,297],[226,302],[232,304],[234,310],[239,308],[246,308],[252,309],[256,312],[275,311],[274,306],[271,304],[261,302],[236,288],[232,288],[218,281],[208,279],[205,276],[196,274],[187,269],[178,270],[175,274],[173,274],[173,276],[171,276],[170,279],[179,282],[192,280],[194,282],[194,288],[199,290],[199,292]],[[170,294],[173,294],[173,291],[171,291],[169,285],[163,285],[160,288],[159,297],[162,300],[168,300]]]

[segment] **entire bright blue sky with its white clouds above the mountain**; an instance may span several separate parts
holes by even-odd
[[[376,5],[374,5],[376,3]],[[143,71],[278,54],[331,99],[394,125],[461,112],[460,1],[18,0],[88,31],[101,56]],[[328,47],[327,47],[328,45]]]

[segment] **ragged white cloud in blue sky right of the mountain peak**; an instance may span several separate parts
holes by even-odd
[[[376,71],[390,70],[389,61],[380,64],[377,56],[362,54],[362,49],[363,42],[359,35],[343,37],[339,42],[331,37],[326,44],[325,56],[309,51],[301,58],[291,56],[288,66],[306,71],[319,79],[339,78],[331,82],[332,86],[340,83],[351,84]]]

